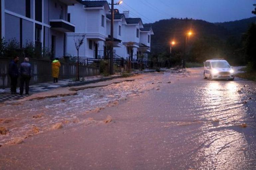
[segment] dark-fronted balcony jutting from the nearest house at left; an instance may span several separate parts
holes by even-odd
[[[65,20],[50,20],[50,26],[60,32],[75,32],[75,25]]]

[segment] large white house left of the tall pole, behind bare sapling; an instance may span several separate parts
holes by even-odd
[[[103,55],[103,45],[108,39],[106,15],[109,11],[107,1],[80,1],[68,8],[70,22],[77,27],[74,33],[66,34],[66,55],[77,55],[74,37],[82,35],[85,35],[85,39],[79,49],[80,57],[98,58],[99,55]]]

